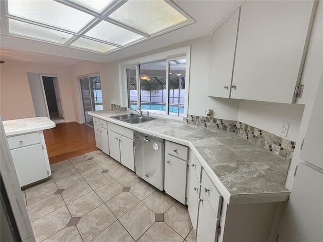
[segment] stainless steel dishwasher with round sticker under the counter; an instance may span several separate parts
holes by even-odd
[[[164,140],[135,131],[136,174],[164,190]]]

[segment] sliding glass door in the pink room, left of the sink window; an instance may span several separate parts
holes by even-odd
[[[84,123],[93,126],[93,117],[89,111],[103,110],[100,76],[79,78],[82,94]]]

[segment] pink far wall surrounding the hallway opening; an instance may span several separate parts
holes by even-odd
[[[74,86],[68,68],[15,61],[6,61],[5,64],[1,64],[0,113],[2,119],[35,116],[27,72],[58,76],[65,120],[66,122],[75,121],[75,100],[73,100],[75,95],[71,95]]]

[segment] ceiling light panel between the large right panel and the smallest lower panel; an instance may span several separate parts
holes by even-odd
[[[120,45],[125,45],[144,37],[106,21],[100,22],[85,35]]]

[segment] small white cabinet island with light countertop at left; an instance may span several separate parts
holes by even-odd
[[[20,187],[51,175],[43,130],[56,125],[48,117],[3,121]]]

